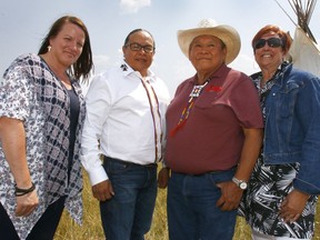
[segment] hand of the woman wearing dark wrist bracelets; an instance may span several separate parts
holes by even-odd
[[[17,199],[17,208],[16,216],[17,217],[27,217],[32,213],[32,211],[39,204],[37,191],[33,190],[23,196],[16,197]]]

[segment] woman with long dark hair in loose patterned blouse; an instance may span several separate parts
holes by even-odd
[[[53,239],[62,210],[81,222],[79,159],[92,69],[89,33],[58,19],[39,53],[18,57],[0,82],[0,238]]]

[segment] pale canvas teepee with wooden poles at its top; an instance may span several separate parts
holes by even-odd
[[[277,0],[276,0],[277,1]],[[296,24],[293,42],[290,48],[290,56],[296,68],[302,69],[320,77],[320,47],[313,37],[309,22],[313,13],[317,0],[288,0],[293,9],[298,22],[294,23],[283,8],[290,20]],[[303,3],[302,3],[303,2]]]

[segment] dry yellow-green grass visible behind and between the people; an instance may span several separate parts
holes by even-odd
[[[74,223],[67,212],[63,212],[62,219],[58,227],[54,240],[103,240],[104,234],[101,227],[99,203],[92,197],[91,187],[87,173],[84,172],[83,188],[83,226]],[[169,240],[167,228],[167,202],[166,190],[159,189],[153,221],[150,232],[146,240]],[[317,208],[316,234],[312,240],[320,240],[320,202]],[[242,218],[237,219],[237,227],[233,240],[250,240],[250,230]]]

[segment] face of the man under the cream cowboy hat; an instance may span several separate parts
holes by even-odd
[[[223,42],[213,36],[199,36],[190,44],[189,59],[197,72],[214,72],[224,62],[227,49]]]

